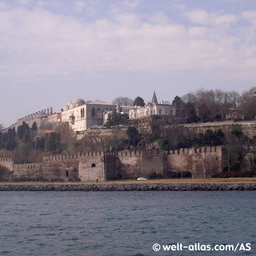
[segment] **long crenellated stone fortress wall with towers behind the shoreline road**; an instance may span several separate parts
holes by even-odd
[[[43,163],[13,164],[11,159],[2,162],[12,171],[13,180],[104,181],[170,177],[174,171],[189,171],[194,178],[211,177],[228,166],[228,156],[225,147],[217,146],[174,151],[80,152],[47,156]]]

